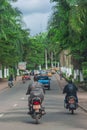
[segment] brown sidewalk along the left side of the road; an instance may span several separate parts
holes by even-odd
[[[14,81],[14,85],[21,81],[21,76],[17,76],[16,81]],[[0,91],[3,89],[9,88],[8,81],[5,79],[4,81],[0,81]]]

